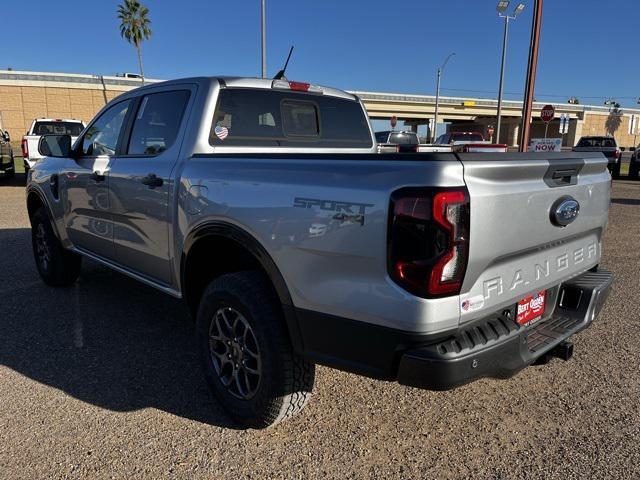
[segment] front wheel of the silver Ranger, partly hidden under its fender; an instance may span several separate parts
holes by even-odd
[[[39,208],[31,218],[31,243],[36,267],[44,283],[65,287],[78,279],[82,257],[62,248],[44,208]]]

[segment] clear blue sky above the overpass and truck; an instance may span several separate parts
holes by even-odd
[[[521,98],[533,0],[511,24],[505,98]],[[118,0],[10,0],[3,5],[0,68],[92,74],[137,71],[119,35]],[[259,0],[143,0],[153,38],[143,45],[155,78],[260,74]],[[512,7],[518,1],[512,1]],[[495,98],[502,22],[495,0],[267,0],[268,73],[352,90]],[[640,96],[636,0],[547,0],[536,99],[635,106]],[[8,19],[8,20],[7,20]]]

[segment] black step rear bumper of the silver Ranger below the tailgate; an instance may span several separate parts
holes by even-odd
[[[523,327],[513,315],[495,315],[465,325],[454,336],[410,349],[400,357],[397,380],[429,390],[448,390],[482,377],[508,378],[588,327],[598,316],[613,283],[600,269],[563,283],[555,308]]]

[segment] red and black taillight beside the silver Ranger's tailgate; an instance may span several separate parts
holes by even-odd
[[[469,212],[464,190],[395,192],[389,218],[391,278],[421,297],[460,293],[469,253]]]

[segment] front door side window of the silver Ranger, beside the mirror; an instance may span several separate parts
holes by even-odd
[[[114,155],[116,153],[118,138],[130,103],[130,100],[126,100],[115,104],[93,122],[82,138],[82,155],[84,157]]]

